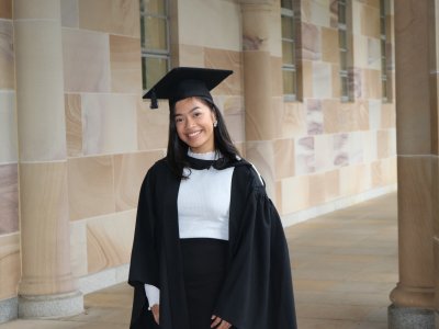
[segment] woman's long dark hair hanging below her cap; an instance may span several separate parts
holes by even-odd
[[[195,99],[207,105],[215,114],[217,125],[213,129],[214,147],[215,151],[218,151],[223,157],[221,161],[224,162],[224,166],[226,166],[226,163],[228,163],[229,161],[236,161],[237,157],[240,158],[240,155],[238,149],[232,141],[230,135],[228,134],[219,109],[211,100],[198,97],[195,97]],[[183,169],[185,167],[189,167],[189,163],[187,161],[189,146],[184,141],[182,141],[177,134],[175,114],[176,102],[169,104],[169,138],[167,159],[172,172],[179,179],[187,179],[188,175],[184,175]]]

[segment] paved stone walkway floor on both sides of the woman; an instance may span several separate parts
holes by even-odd
[[[291,226],[300,329],[384,329],[397,282],[396,193]],[[132,290],[119,284],[85,297],[81,315],[15,320],[0,329],[126,329]],[[267,328],[269,329],[269,328]]]

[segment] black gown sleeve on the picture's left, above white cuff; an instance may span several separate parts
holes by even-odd
[[[154,318],[148,310],[148,300],[145,293],[145,284],[154,285],[158,290],[160,288],[158,245],[156,239],[158,227],[154,193],[155,182],[156,177],[153,167],[142,184],[137,205],[128,274],[128,284],[134,287],[131,328],[142,328],[145,324],[151,324],[146,328],[155,328],[154,322],[151,322]]]

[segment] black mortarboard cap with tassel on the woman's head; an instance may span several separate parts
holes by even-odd
[[[144,99],[150,99],[151,109],[157,109],[157,100],[169,100],[169,104],[180,100],[199,97],[213,103],[210,91],[232,75],[230,70],[177,67],[162,77]]]

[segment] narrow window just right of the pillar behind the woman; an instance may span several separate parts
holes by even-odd
[[[297,36],[300,35],[300,8],[295,0],[281,0],[282,77],[286,101],[299,99]]]

